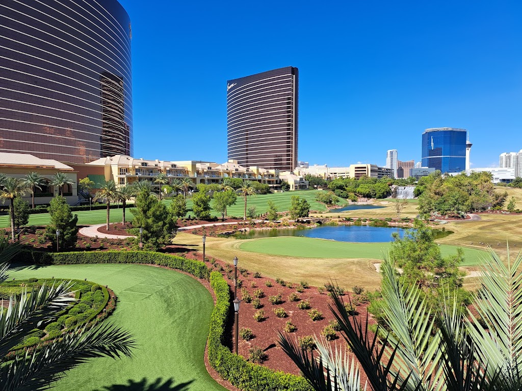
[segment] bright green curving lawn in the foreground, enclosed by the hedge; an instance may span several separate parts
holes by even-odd
[[[139,344],[132,360],[94,359],[53,389],[226,391],[205,369],[213,301],[193,278],[159,267],[116,264],[25,267],[9,273],[17,279],[52,276],[108,285],[118,296],[108,321],[131,331]]]

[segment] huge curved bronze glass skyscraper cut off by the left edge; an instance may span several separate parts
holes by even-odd
[[[0,2],[0,152],[133,154],[131,21],[116,0]]]

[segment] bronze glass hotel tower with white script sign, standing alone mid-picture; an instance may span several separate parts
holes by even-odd
[[[279,68],[227,82],[228,158],[245,167],[297,165],[299,71]]]

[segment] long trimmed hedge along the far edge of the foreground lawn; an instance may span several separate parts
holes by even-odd
[[[197,278],[209,278],[208,267],[200,261],[181,256],[153,251],[83,251],[83,252],[42,252],[22,251],[18,255],[22,262],[44,265],[71,265],[81,263],[151,263],[182,270]]]

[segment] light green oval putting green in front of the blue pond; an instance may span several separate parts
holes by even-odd
[[[334,240],[281,236],[259,238],[241,243],[241,250],[260,252],[270,255],[301,256],[304,258],[369,258],[383,259],[390,243],[352,243]],[[444,256],[454,254],[456,246],[441,245]],[[477,264],[483,255],[482,250],[462,247],[464,262],[462,266]]]

